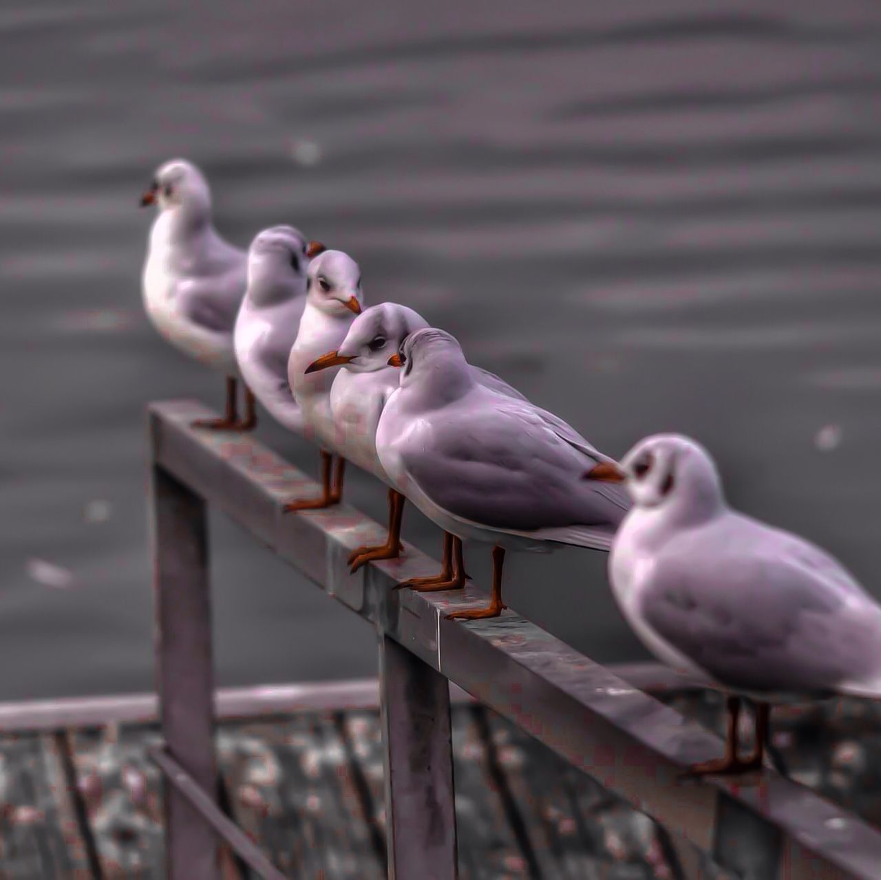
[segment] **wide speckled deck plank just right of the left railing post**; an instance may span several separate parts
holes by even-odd
[[[332,716],[224,725],[218,758],[233,816],[279,869],[324,880],[385,876]]]

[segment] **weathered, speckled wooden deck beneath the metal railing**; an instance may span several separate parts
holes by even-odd
[[[714,694],[666,699],[709,726],[720,721]],[[877,714],[840,701],[781,710],[776,724],[790,773],[876,821],[877,773],[870,780],[865,764]],[[459,704],[453,730],[463,880],[682,876],[663,830],[507,721]],[[289,876],[386,876],[379,731],[371,708],[219,725],[233,816]],[[158,743],[158,728],[141,723],[0,737],[0,878],[165,876],[160,775],[146,757]],[[861,773],[867,784],[848,784]],[[238,876],[228,861],[226,876]]]

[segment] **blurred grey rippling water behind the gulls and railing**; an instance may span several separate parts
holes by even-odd
[[[152,681],[144,403],[221,400],[140,308],[137,196],[175,154],[232,240],[292,222],[352,252],[370,301],[612,454],[696,435],[732,499],[881,595],[881,7],[188,5],[0,9],[0,699]],[[384,515],[366,477],[349,495]],[[371,672],[369,627],[214,525],[222,682]],[[515,557],[507,595],[639,656],[602,575]]]

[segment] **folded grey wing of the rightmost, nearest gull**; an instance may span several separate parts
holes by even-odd
[[[862,594],[848,573],[795,536],[732,519],[704,564],[682,542],[663,551],[643,594],[648,625],[744,691],[831,691],[873,669],[877,634],[846,606],[853,588]]]

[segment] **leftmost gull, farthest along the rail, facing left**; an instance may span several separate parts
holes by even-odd
[[[238,369],[233,326],[245,293],[246,260],[222,239],[211,223],[211,189],[204,174],[186,159],[159,166],[141,197],[155,204],[142,288],[144,307],[168,342],[191,358],[226,373],[224,418],[202,420],[201,427],[236,430]],[[248,411],[254,400],[245,389]]]

